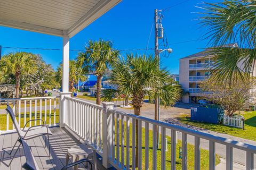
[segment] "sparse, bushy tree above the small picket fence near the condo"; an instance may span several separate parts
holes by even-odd
[[[249,106],[255,98],[252,91],[255,84],[252,79],[233,79],[230,83],[226,81],[216,81],[214,78],[203,82],[200,86],[205,92],[207,100],[221,105],[228,116],[232,116],[236,111],[245,106]]]

